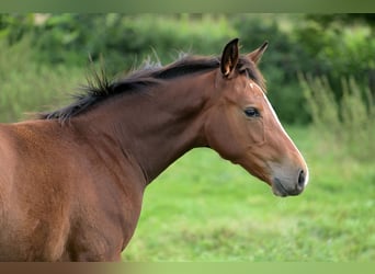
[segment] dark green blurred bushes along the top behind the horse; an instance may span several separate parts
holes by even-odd
[[[0,14],[0,38],[26,38],[34,60],[52,66],[103,57],[111,75],[149,56],[168,64],[181,52],[219,55],[236,36],[242,53],[268,39],[260,68],[270,101],[283,122],[307,124],[299,72],[325,76],[336,99],[343,77],[375,93],[374,22],[370,14]]]

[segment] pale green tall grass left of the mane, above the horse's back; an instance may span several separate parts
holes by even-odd
[[[0,41],[0,122],[25,118],[24,112],[41,112],[63,104],[84,83],[84,70],[33,61],[27,41],[12,47]]]

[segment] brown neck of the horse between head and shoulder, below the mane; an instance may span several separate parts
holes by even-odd
[[[190,149],[206,146],[203,128],[209,89],[203,89],[202,81],[211,75],[179,78],[113,99],[88,114],[86,119],[94,121],[86,123],[95,125],[98,137],[115,140],[117,152],[139,164],[148,184]]]

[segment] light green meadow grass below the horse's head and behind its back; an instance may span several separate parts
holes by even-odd
[[[84,67],[36,66],[27,53],[22,44],[0,50],[2,123],[64,105],[84,83]],[[212,150],[194,149],[146,190],[123,260],[375,260],[374,162],[351,157],[315,127],[286,129],[309,165],[302,195],[275,197],[240,167]]]

